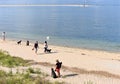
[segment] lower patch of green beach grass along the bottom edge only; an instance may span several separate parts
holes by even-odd
[[[0,70],[0,84],[64,84],[63,82],[50,82],[46,79],[46,76],[42,74],[36,74],[32,76],[32,73],[7,73]]]

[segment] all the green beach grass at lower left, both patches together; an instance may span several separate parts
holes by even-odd
[[[47,79],[48,75],[41,72],[40,69],[28,68],[22,73],[19,70],[16,73],[12,72],[12,67],[24,67],[26,64],[28,64],[28,61],[0,50],[0,66],[11,69],[9,72],[0,70],[0,84],[65,84],[64,82],[49,81]]]

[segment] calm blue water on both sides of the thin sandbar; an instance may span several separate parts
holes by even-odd
[[[1,0],[6,4],[83,4],[81,0]],[[120,51],[120,1],[86,0],[80,6],[0,6],[0,32],[7,38]]]

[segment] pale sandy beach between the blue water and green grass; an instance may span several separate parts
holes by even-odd
[[[65,81],[68,84],[87,84],[89,81],[93,84],[120,84],[120,53],[53,45],[49,45],[52,49],[51,53],[44,53],[43,47],[43,44],[39,44],[36,54],[32,50],[33,43],[26,46],[26,42],[17,45],[17,41],[0,40],[1,50],[40,63],[42,70],[48,74],[50,68],[54,67],[56,59],[62,61],[61,75],[66,77],[58,79],[50,77],[50,80]]]

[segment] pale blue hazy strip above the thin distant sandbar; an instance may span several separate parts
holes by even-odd
[[[0,4],[82,4],[84,0],[0,0]],[[120,0],[86,0],[89,4],[120,4]]]

